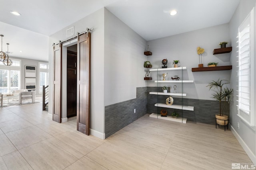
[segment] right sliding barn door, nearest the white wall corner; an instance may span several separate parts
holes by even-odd
[[[90,33],[78,37],[77,43],[77,130],[90,130]]]

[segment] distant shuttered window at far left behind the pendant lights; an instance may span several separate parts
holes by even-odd
[[[12,59],[11,66],[0,62],[0,93],[11,93],[20,89],[21,60]]]

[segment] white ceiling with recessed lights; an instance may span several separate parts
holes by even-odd
[[[48,36],[106,7],[147,41],[228,23],[240,0],[0,0],[3,51],[48,61]],[[177,10],[170,16],[171,10]],[[17,11],[21,16],[14,16]],[[40,40],[40,41],[38,41]],[[22,53],[20,52],[22,51]]]

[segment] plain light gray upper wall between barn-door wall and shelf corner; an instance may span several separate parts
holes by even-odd
[[[136,87],[145,87],[146,40],[111,12],[104,13],[105,106],[136,98]]]

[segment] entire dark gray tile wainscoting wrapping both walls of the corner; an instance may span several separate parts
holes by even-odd
[[[157,92],[157,90],[162,92],[162,87],[138,87],[136,88],[136,99],[105,106],[105,137],[109,137],[146,113],[160,114],[161,109],[166,109],[168,115],[171,115],[173,111],[179,113],[180,117],[183,114],[183,117],[187,118],[188,121],[215,125],[215,114],[219,112],[218,101],[183,98],[183,104],[194,106],[194,111],[183,110],[182,113],[180,109],[155,107],[154,104],[165,103],[168,97],[149,94],[149,92]],[[182,105],[182,98],[174,98],[174,104]],[[134,113],[134,109],[136,109],[136,113]],[[224,114],[229,116],[229,104],[227,102]]]

